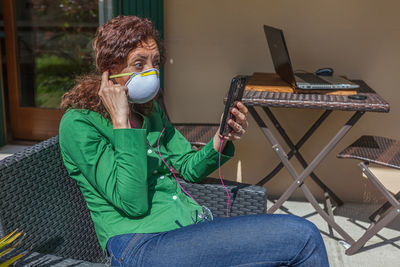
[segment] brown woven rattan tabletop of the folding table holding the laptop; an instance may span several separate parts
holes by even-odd
[[[286,108],[312,108],[325,110],[389,112],[389,104],[375,93],[365,82],[353,80],[360,85],[358,94],[366,100],[352,100],[348,96],[325,94],[292,94],[245,90],[242,102],[248,106]]]

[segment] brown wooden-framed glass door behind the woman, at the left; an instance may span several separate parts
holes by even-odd
[[[58,134],[61,96],[94,70],[91,42],[105,0],[2,0],[11,134]]]

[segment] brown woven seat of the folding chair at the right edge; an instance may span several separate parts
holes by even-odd
[[[337,157],[359,159],[400,169],[400,142],[381,136],[364,135]]]

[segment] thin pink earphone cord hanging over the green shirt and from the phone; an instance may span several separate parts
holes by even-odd
[[[133,128],[137,128],[136,125],[133,123],[133,121],[129,120],[129,122],[130,122],[130,124],[132,125]],[[165,119],[164,128],[163,128],[163,130],[161,131],[160,136],[159,136],[158,139],[157,139],[157,149],[158,149],[158,152],[157,152],[157,151],[154,149],[154,147],[149,143],[149,141],[147,141],[147,139],[146,139],[146,143],[151,147],[151,149],[152,149],[158,156],[160,156],[162,162],[164,162],[165,166],[168,167],[169,171],[170,171],[170,172],[172,173],[172,175],[174,176],[174,178],[175,178],[176,182],[178,183],[179,187],[181,188],[181,190],[182,190],[186,195],[188,195],[191,199],[193,199],[193,201],[196,202],[197,205],[201,206],[201,205],[199,204],[199,202],[197,202],[197,201],[194,199],[194,197],[193,197],[191,194],[189,194],[189,193],[182,187],[181,183],[179,183],[178,178],[177,178],[176,175],[175,175],[174,170],[167,164],[167,162],[165,161],[165,159],[161,156],[161,151],[160,151],[160,139],[161,139],[161,136],[162,136],[162,134],[164,133],[166,127],[167,127],[167,123],[168,123],[168,119]],[[226,191],[226,193],[227,193],[227,195],[228,195],[228,204],[227,204],[227,206],[226,206],[226,217],[229,217],[229,202],[230,202],[230,196],[229,196],[228,189],[226,189],[226,186],[225,186],[225,184],[224,184],[224,181],[222,180],[222,177],[221,177],[221,150],[222,150],[222,145],[223,145],[223,143],[224,143],[224,138],[225,138],[225,136],[222,136],[222,139],[221,139],[221,146],[220,146],[220,148],[219,148],[218,173],[219,173],[219,178],[220,178],[220,180],[221,180],[222,186],[224,187],[224,189],[225,189],[225,191]]]

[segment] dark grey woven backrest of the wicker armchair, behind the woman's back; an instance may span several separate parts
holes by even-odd
[[[89,210],[51,138],[0,161],[0,219],[33,251],[105,262]]]

